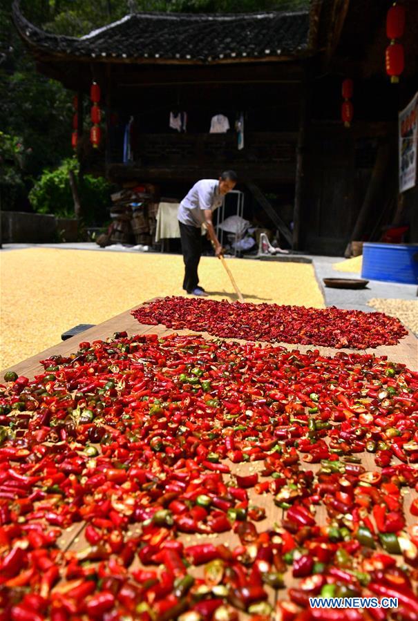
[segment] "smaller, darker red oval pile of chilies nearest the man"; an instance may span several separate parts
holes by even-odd
[[[395,317],[334,306],[318,309],[173,296],[142,305],[132,314],[140,323],[163,324],[175,330],[193,329],[223,338],[337,349],[396,345],[408,334]]]

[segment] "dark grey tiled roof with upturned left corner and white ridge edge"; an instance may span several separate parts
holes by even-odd
[[[230,61],[297,57],[307,50],[309,12],[236,15],[133,13],[77,39],[52,35],[13,4],[15,24],[32,47],[51,55],[149,61]]]

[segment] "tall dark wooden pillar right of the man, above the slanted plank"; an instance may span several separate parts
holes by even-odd
[[[304,185],[304,159],[305,159],[305,140],[306,140],[306,124],[307,109],[309,97],[307,85],[306,68],[304,69],[303,80],[301,83],[301,104],[299,106],[299,131],[298,144],[296,146],[296,182],[294,188],[294,211],[293,211],[293,231],[292,231],[292,248],[298,250],[301,245],[301,213]]]

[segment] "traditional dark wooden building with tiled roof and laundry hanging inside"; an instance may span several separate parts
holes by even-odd
[[[132,14],[81,39],[39,30],[17,1],[13,15],[41,73],[79,101],[92,82],[100,86],[106,126],[98,152],[84,155],[88,166],[180,198],[198,178],[235,169],[295,249],[343,254],[353,235],[378,239],[396,218],[408,221],[409,240],[418,238],[417,190],[403,202],[397,191],[397,115],[418,90],[418,6],[403,4],[406,70],[397,85],[385,71],[390,0],[312,0],[306,11],[245,15]],[[348,77],[350,128],[341,121]],[[210,133],[220,116],[229,131]],[[244,122],[243,136],[236,122]]]

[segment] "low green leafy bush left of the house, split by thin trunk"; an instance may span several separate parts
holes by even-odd
[[[73,171],[77,180],[79,163],[69,157],[55,170],[44,170],[30,190],[29,200],[38,213],[54,213],[59,218],[74,217],[73,194],[68,172]],[[97,224],[106,220],[106,208],[110,204],[111,186],[103,177],[85,175],[78,184],[79,199],[85,224]]]

